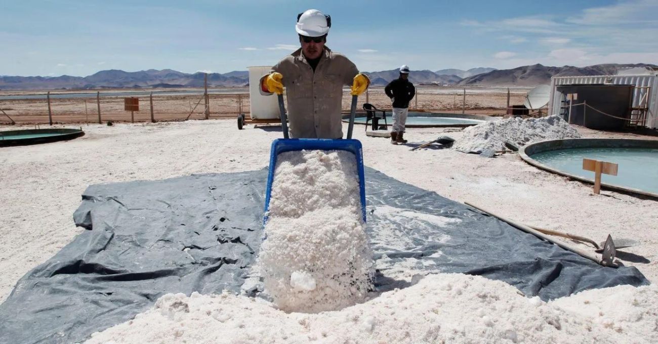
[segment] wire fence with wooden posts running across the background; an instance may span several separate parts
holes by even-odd
[[[522,103],[524,92],[512,93],[511,103]],[[138,99],[139,111],[125,111],[124,98]],[[343,92],[343,111],[350,109],[351,96]],[[391,101],[383,87],[371,87],[359,97],[357,111],[364,103],[390,109]],[[505,114],[507,91],[491,92],[478,89],[440,89],[419,87],[409,104],[418,111],[447,111],[483,114]],[[153,115],[151,116],[151,111]],[[220,89],[208,93],[206,114],[203,89],[184,91],[97,91],[86,93],[24,93],[0,96],[0,123],[63,124],[151,122],[186,119],[235,118],[249,115],[249,89]]]

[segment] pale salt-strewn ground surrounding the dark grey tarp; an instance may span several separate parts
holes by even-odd
[[[0,301],[21,276],[82,232],[72,213],[88,185],[263,168],[272,139],[281,136],[253,126],[238,131],[234,120],[83,128],[86,135],[72,141],[0,149]],[[579,130],[584,137],[638,138]],[[459,139],[460,131],[410,129],[405,137],[410,143],[443,133]],[[538,170],[515,154],[483,159],[453,149],[412,152],[388,139],[367,137],[363,126],[355,128],[355,138],[363,142],[367,166],[455,201],[473,201],[521,222],[595,241],[607,233],[638,239],[642,245],[627,249],[624,264],[658,281],[657,201],[612,191],[593,195],[591,185]]]

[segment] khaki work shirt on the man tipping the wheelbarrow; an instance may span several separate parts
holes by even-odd
[[[353,78],[359,74],[357,66],[352,61],[324,47],[320,61],[313,72],[300,48],[274,65],[272,72],[283,75],[283,84],[288,93],[291,137],[304,139],[343,137],[341,117],[343,85],[351,86]],[[263,92],[261,89],[261,94],[272,93]]]

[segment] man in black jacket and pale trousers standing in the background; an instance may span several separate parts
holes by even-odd
[[[393,102],[393,131],[391,132],[391,143],[407,143],[404,138],[409,102],[416,95],[416,87],[409,82],[409,66],[403,64],[400,67],[399,78],[393,80],[384,88],[386,95]]]

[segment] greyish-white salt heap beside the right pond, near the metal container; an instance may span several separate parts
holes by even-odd
[[[580,133],[575,128],[557,115],[526,120],[517,117],[485,122],[467,128],[463,133],[464,135],[453,147],[457,151],[466,153],[484,149],[501,151],[505,149],[505,141],[520,147],[546,139],[580,137]]]

